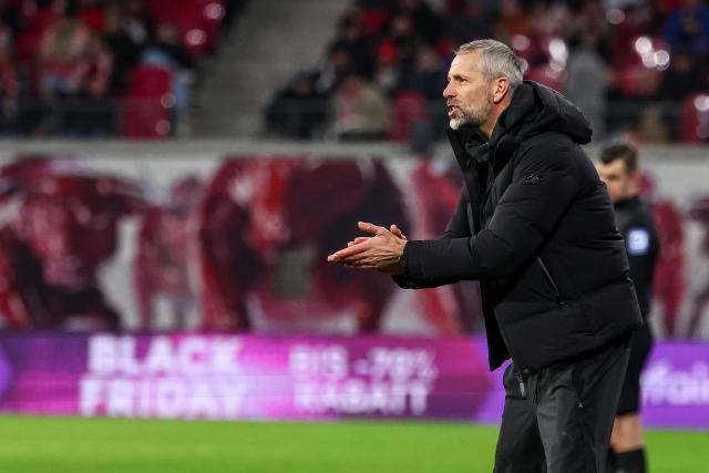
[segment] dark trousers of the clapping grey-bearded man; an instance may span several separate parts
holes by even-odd
[[[628,356],[624,337],[541,370],[510,364],[494,473],[603,473]]]

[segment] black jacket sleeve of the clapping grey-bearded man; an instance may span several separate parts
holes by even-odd
[[[513,275],[538,250],[579,191],[564,145],[531,147],[516,165],[487,227],[470,237],[409,241],[413,279],[455,281]]]

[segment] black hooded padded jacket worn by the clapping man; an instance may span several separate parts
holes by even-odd
[[[481,281],[490,368],[542,368],[641,325],[584,115],[525,81],[490,143],[449,130],[465,185],[444,235],[410,240],[403,288]],[[492,171],[492,172],[491,172]]]

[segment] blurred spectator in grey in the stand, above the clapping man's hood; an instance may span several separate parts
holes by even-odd
[[[584,112],[596,141],[605,136],[606,114],[606,64],[597,44],[598,34],[593,31],[572,42],[564,84],[564,94]]]

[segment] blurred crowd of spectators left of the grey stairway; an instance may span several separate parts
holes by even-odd
[[[0,0],[0,133],[121,134],[141,66],[169,74],[169,123],[184,123],[199,59],[238,0]],[[163,104],[165,105],[165,103]]]

